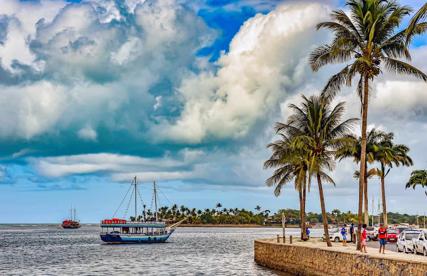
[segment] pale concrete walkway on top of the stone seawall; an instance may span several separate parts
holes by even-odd
[[[257,241],[261,241],[263,243],[271,243],[271,244],[277,244],[277,238],[269,238],[269,239],[260,239]],[[280,244],[283,243],[283,239],[280,238]],[[289,245],[289,238],[286,238],[286,244]],[[356,250],[356,245],[347,243],[347,246],[342,246],[342,242],[336,243],[332,242],[332,247],[328,247],[326,245],[326,242],[322,241],[320,238],[310,237],[310,241],[299,241],[298,238],[293,238],[292,240],[293,246],[302,246],[302,247],[312,247],[312,248],[322,248],[327,249],[331,251],[339,251],[339,252],[347,252],[347,253],[354,253],[354,254],[361,254],[361,255],[370,255],[377,258],[387,258],[387,259],[394,259],[394,260],[405,260],[405,261],[412,261],[412,262],[420,262],[427,264],[427,257],[424,257],[423,255],[415,255],[412,253],[405,254],[405,253],[398,253],[395,250],[387,250],[385,251],[386,254],[379,253],[379,247],[378,248],[372,248],[372,247],[366,247],[367,253],[360,253],[359,250]]]

